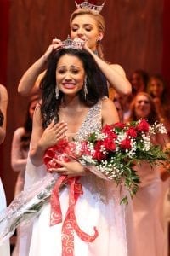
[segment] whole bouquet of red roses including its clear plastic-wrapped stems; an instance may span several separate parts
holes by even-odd
[[[133,169],[134,165],[140,161],[147,161],[150,165],[169,162],[169,151],[166,154],[159,145],[153,143],[152,137],[157,133],[167,131],[163,125],[149,125],[144,119],[127,124],[105,125],[101,131],[94,131],[82,142],[61,140],[54,147],[48,148],[44,163],[47,169],[53,169],[59,167],[56,160],[69,161],[74,158],[95,175],[115,181],[117,185],[124,184],[133,196],[139,188],[139,176]],[[81,184],[77,181],[78,177],[69,180],[58,173],[48,173],[41,181],[18,195],[0,213],[0,243],[12,236],[19,224],[28,224],[37,217],[49,198],[53,200],[53,191],[55,193],[56,189],[59,190],[62,183],[68,183],[69,186],[73,183],[71,203],[76,203],[77,196],[82,193]],[[59,197],[59,191],[54,196],[55,200],[56,195]],[[122,202],[127,202],[127,196]]]

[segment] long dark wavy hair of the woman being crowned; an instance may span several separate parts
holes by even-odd
[[[48,124],[54,119],[59,122],[59,107],[61,103],[65,103],[65,95],[60,91],[59,98],[55,97],[55,87],[56,87],[56,67],[58,65],[59,59],[63,55],[76,56],[84,67],[87,76],[87,89],[88,94],[85,97],[83,87],[82,90],[78,92],[80,101],[88,107],[94,106],[99,101],[99,98],[105,96],[101,84],[103,79],[101,78],[99,67],[92,55],[86,50],[77,49],[59,49],[59,51],[54,50],[50,55],[48,61],[48,69],[41,81],[40,88],[42,90],[42,104],[41,104],[41,114],[42,114],[42,127],[46,128]]]

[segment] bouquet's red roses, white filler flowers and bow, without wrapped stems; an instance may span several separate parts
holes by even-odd
[[[145,119],[123,124],[105,125],[82,142],[61,141],[44,156],[48,168],[57,167],[54,159],[74,157],[99,177],[124,183],[131,195],[139,188],[139,176],[133,166],[140,161],[157,164],[167,160],[159,145],[152,143],[157,133],[167,133],[164,125],[149,125]],[[61,152],[62,151],[62,152]]]

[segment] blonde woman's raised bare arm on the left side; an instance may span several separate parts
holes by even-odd
[[[52,42],[44,55],[42,55],[41,58],[39,58],[33,65],[31,65],[31,67],[26,71],[26,73],[24,73],[24,75],[20,79],[20,83],[18,86],[18,92],[20,93],[20,95],[28,96],[30,94],[31,89],[37,81],[38,75],[42,73],[42,71],[46,67],[49,55],[54,49],[60,49],[61,41],[59,39],[54,39],[54,41],[55,44],[53,44]]]

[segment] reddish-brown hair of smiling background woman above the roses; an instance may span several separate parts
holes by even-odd
[[[136,113],[135,113],[135,104],[136,104],[138,96],[140,96],[140,95],[146,96],[148,98],[149,102],[150,102],[150,113],[147,117],[147,120],[148,120],[149,124],[152,125],[156,121],[160,121],[160,119],[158,117],[158,114],[156,112],[155,103],[153,102],[151,96],[146,92],[139,92],[134,97],[133,102],[131,103],[131,106],[130,106],[131,114],[130,114],[130,117],[129,117],[128,121],[137,121],[138,120],[138,117],[136,116]]]

